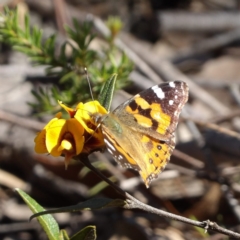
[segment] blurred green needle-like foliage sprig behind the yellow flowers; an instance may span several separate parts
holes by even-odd
[[[73,19],[73,26],[66,27],[67,40],[61,46],[56,43],[56,35],[43,40],[42,30],[31,26],[28,15],[25,16],[24,26],[19,22],[17,10],[5,9],[0,19],[0,41],[26,54],[34,65],[46,66],[46,74],[53,77],[51,84],[45,83],[33,90],[37,101],[30,105],[35,112],[58,111],[58,107],[54,107],[57,100],[70,106],[89,100],[90,90],[84,74],[85,67],[88,69],[95,99],[113,73],[118,74],[117,89],[129,83],[128,76],[133,64],[112,44],[116,31],[121,29],[119,19],[111,18],[108,21],[112,34],[105,39],[104,47],[98,51],[91,48],[92,41],[96,40],[92,22],[79,23]]]

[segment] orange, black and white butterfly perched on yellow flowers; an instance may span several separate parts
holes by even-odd
[[[188,91],[185,82],[159,84],[98,120],[108,152],[122,167],[139,171],[146,187],[170,160]]]

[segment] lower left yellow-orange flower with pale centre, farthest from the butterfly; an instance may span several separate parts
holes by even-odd
[[[35,138],[35,152],[49,153],[54,157],[65,155],[65,165],[82,152],[84,128],[74,118],[60,119],[57,114]]]

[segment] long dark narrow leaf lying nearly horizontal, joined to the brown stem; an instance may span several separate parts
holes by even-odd
[[[33,219],[35,217],[41,216],[43,214],[48,214],[48,213],[77,212],[81,210],[97,210],[97,209],[103,209],[108,207],[122,207],[125,204],[126,202],[122,199],[92,198],[76,205],[38,212],[36,214],[33,214],[30,217],[30,219]]]

